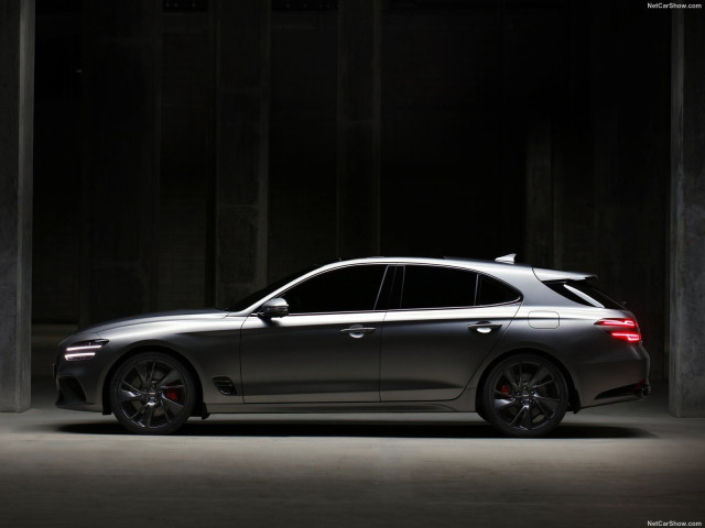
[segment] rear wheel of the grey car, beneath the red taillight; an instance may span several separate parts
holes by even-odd
[[[561,424],[568,407],[568,386],[550,360],[517,354],[492,367],[481,397],[482,414],[502,433],[539,437]]]

